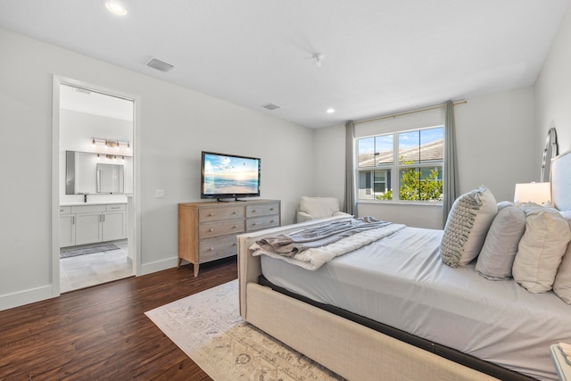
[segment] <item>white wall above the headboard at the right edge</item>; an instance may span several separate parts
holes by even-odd
[[[545,137],[557,128],[559,153],[571,150],[571,10],[567,11],[535,84],[536,141],[541,161]]]

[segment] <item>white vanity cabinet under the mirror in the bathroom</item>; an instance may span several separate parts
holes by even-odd
[[[126,238],[126,211],[124,203],[60,207],[60,247]]]

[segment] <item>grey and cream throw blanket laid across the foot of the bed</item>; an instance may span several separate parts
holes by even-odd
[[[390,236],[401,228],[405,226],[370,217],[352,219],[263,238],[252,244],[250,249],[254,250],[254,256],[265,254],[315,270],[339,255]]]

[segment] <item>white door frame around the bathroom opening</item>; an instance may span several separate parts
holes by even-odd
[[[133,195],[128,196],[128,251],[132,253],[133,270],[141,274],[141,204],[140,120],[141,97],[112,88],[101,87],[77,79],[54,75],[52,81],[52,295],[60,295],[60,86],[81,87],[98,93],[117,96],[133,102]],[[129,209],[130,208],[130,209]],[[130,233],[130,235],[129,235]]]

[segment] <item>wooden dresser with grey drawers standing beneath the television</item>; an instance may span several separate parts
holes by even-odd
[[[178,204],[178,266],[194,266],[236,255],[236,235],[281,225],[278,200]]]

